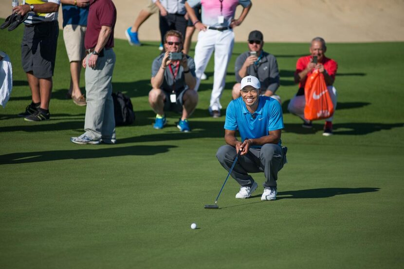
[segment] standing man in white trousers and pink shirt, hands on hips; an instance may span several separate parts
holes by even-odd
[[[238,19],[233,19],[236,7],[241,4],[243,10]],[[202,22],[198,20],[193,7],[202,5]],[[210,97],[209,113],[213,118],[220,117],[220,97],[224,89],[227,65],[229,63],[233,45],[233,28],[239,26],[251,8],[250,0],[187,0],[186,11],[192,19],[198,34],[195,47],[195,67],[197,76],[196,90],[199,88],[201,76],[209,62],[212,52],[215,51],[215,72],[213,89]]]

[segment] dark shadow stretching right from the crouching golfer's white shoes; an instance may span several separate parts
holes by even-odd
[[[328,198],[343,194],[358,194],[365,192],[379,191],[380,188],[318,188],[304,190],[281,191],[276,195],[277,200],[281,199],[306,199],[306,198]]]

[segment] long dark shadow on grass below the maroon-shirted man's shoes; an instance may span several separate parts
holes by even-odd
[[[66,143],[71,143],[66,140]],[[36,163],[36,162],[48,162],[57,160],[79,160],[79,159],[92,159],[103,157],[115,157],[115,156],[131,156],[131,155],[155,155],[158,153],[164,153],[171,148],[176,148],[172,145],[159,145],[159,146],[130,146],[130,147],[118,147],[117,145],[110,146],[109,148],[99,145],[75,145],[73,143],[72,148],[74,150],[67,151],[34,151],[34,152],[18,152],[0,155],[0,165],[5,164],[23,164],[23,163]],[[83,149],[91,148],[91,149]]]

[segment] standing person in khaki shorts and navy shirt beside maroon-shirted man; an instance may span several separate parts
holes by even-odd
[[[87,28],[90,0],[61,0],[63,12],[63,39],[70,61],[70,89],[68,97],[76,105],[86,105],[80,90],[81,61],[86,56],[84,35]]]

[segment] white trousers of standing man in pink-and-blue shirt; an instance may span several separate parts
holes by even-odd
[[[219,110],[220,97],[224,89],[227,65],[229,64],[234,46],[233,30],[218,31],[206,30],[198,34],[198,42],[195,47],[195,73],[197,83],[195,90],[198,90],[201,83],[201,76],[209,62],[212,52],[215,51],[215,68],[213,74],[213,89],[210,96],[209,110]]]

